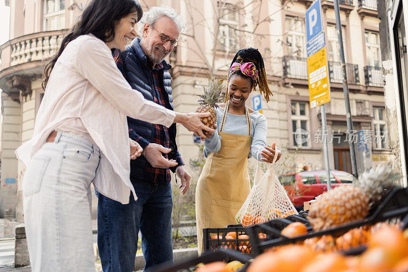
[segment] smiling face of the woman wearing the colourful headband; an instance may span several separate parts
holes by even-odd
[[[228,80],[228,96],[230,106],[245,107],[245,101],[252,91],[252,80],[239,74],[234,74]]]

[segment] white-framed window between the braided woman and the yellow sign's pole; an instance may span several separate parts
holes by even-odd
[[[291,102],[293,146],[309,147],[309,105],[306,102]]]

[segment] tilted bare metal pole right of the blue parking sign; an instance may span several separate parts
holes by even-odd
[[[340,21],[340,8],[339,8],[339,0],[334,0],[334,7],[336,13],[336,29],[337,29],[337,37],[339,39],[339,52],[340,52],[340,62],[343,72],[343,93],[344,93],[344,102],[346,104],[346,119],[347,119],[347,130],[348,133],[352,133],[353,130],[353,122],[351,120],[351,112],[350,112],[350,99],[348,94],[348,84],[347,84],[347,74],[346,74],[346,63],[344,60],[344,50],[343,50],[343,38],[341,33],[341,21]],[[357,170],[357,162],[355,160],[355,146],[353,141],[349,141],[350,144],[350,156],[351,156],[351,169],[353,172],[353,177],[358,178],[358,170]]]

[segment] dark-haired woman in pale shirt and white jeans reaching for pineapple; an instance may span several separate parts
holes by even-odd
[[[95,271],[91,192],[122,204],[130,194],[126,116],[169,127],[211,131],[199,114],[180,114],[146,101],[117,69],[111,50],[124,50],[142,16],[135,0],[92,0],[44,69],[45,95],[33,138],[16,151],[27,166],[22,183],[32,271]],[[170,150],[168,150],[170,152]],[[175,161],[169,161],[173,166]]]

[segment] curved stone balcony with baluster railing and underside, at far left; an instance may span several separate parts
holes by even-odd
[[[41,74],[43,60],[55,55],[65,34],[66,30],[38,32],[0,46],[0,89],[8,94],[22,89],[23,93],[31,92],[27,90],[29,82]]]

